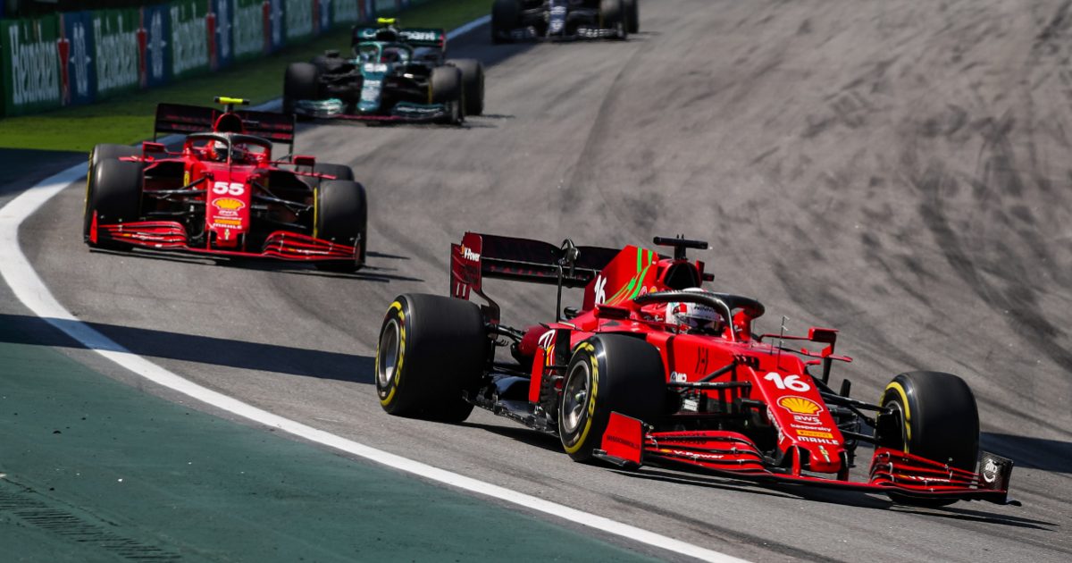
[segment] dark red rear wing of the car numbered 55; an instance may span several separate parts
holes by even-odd
[[[252,109],[238,109],[234,114],[242,120],[242,133],[294,147],[294,116]],[[222,115],[223,112],[214,107],[157,104],[157,121],[152,128],[152,139],[155,140],[160,133],[188,135],[212,131],[217,120]]]

